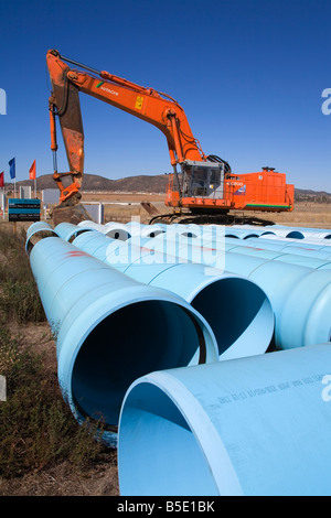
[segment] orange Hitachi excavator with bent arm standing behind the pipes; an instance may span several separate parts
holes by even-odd
[[[84,131],[79,91],[127,111],[163,132],[170,163],[164,204],[173,215],[227,215],[229,211],[284,212],[293,209],[293,185],[286,175],[265,166],[260,172],[234,174],[227,161],[206,155],[193,137],[183,108],[167,94],[96,71],[50,50],[46,55],[52,93],[49,99],[51,149],[60,188],[58,220],[75,223],[86,217],[82,197]],[[70,67],[74,65],[74,67]],[[60,119],[70,171],[57,172],[56,117]],[[67,185],[64,185],[65,177]],[[53,213],[54,214],[54,213]],[[167,215],[172,217],[173,215]],[[160,218],[158,218],[160,219]]]

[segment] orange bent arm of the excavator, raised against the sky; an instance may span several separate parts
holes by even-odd
[[[62,204],[78,203],[84,171],[84,131],[79,91],[96,97],[159,128],[167,138],[171,164],[185,161],[205,162],[207,157],[193,137],[182,107],[170,96],[146,88],[127,79],[87,67],[55,50],[46,55],[52,82],[50,97],[51,149],[54,157],[54,180],[61,191]],[[85,68],[71,68],[67,63]],[[58,116],[70,172],[58,173],[56,161],[56,123]],[[72,184],[64,186],[63,176],[71,175]]]

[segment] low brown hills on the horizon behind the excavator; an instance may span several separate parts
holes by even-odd
[[[119,180],[109,180],[97,174],[84,174],[83,191],[107,191],[121,193],[166,193],[169,176],[167,174],[127,176]],[[6,183],[7,186],[12,184]],[[30,185],[33,188],[33,180],[17,182],[20,185]],[[36,179],[39,191],[55,188],[52,174],[44,174]],[[331,194],[325,191],[312,191],[296,188],[296,202],[331,203]]]

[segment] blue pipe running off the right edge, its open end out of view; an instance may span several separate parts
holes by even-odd
[[[331,272],[308,266],[286,263],[249,255],[205,248],[192,239],[179,238],[175,245],[162,236],[154,238],[160,247],[171,246],[179,257],[209,267],[222,262],[226,271],[242,274],[258,284],[269,298],[275,316],[275,343],[279,348],[300,347],[330,341]],[[156,246],[156,245],[154,245]],[[188,251],[189,248],[189,251]],[[307,262],[308,263],[308,262]]]

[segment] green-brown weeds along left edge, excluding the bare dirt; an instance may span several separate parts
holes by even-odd
[[[0,374],[7,382],[7,400],[0,402],[0,477],[14,478],[64,461],[82,470],[106,453],[95,440],[96,425],[77,424],[43,356],[23,347],[22,336],[10,331],[12,322],[45,320],[24,235],[0,230]]]

